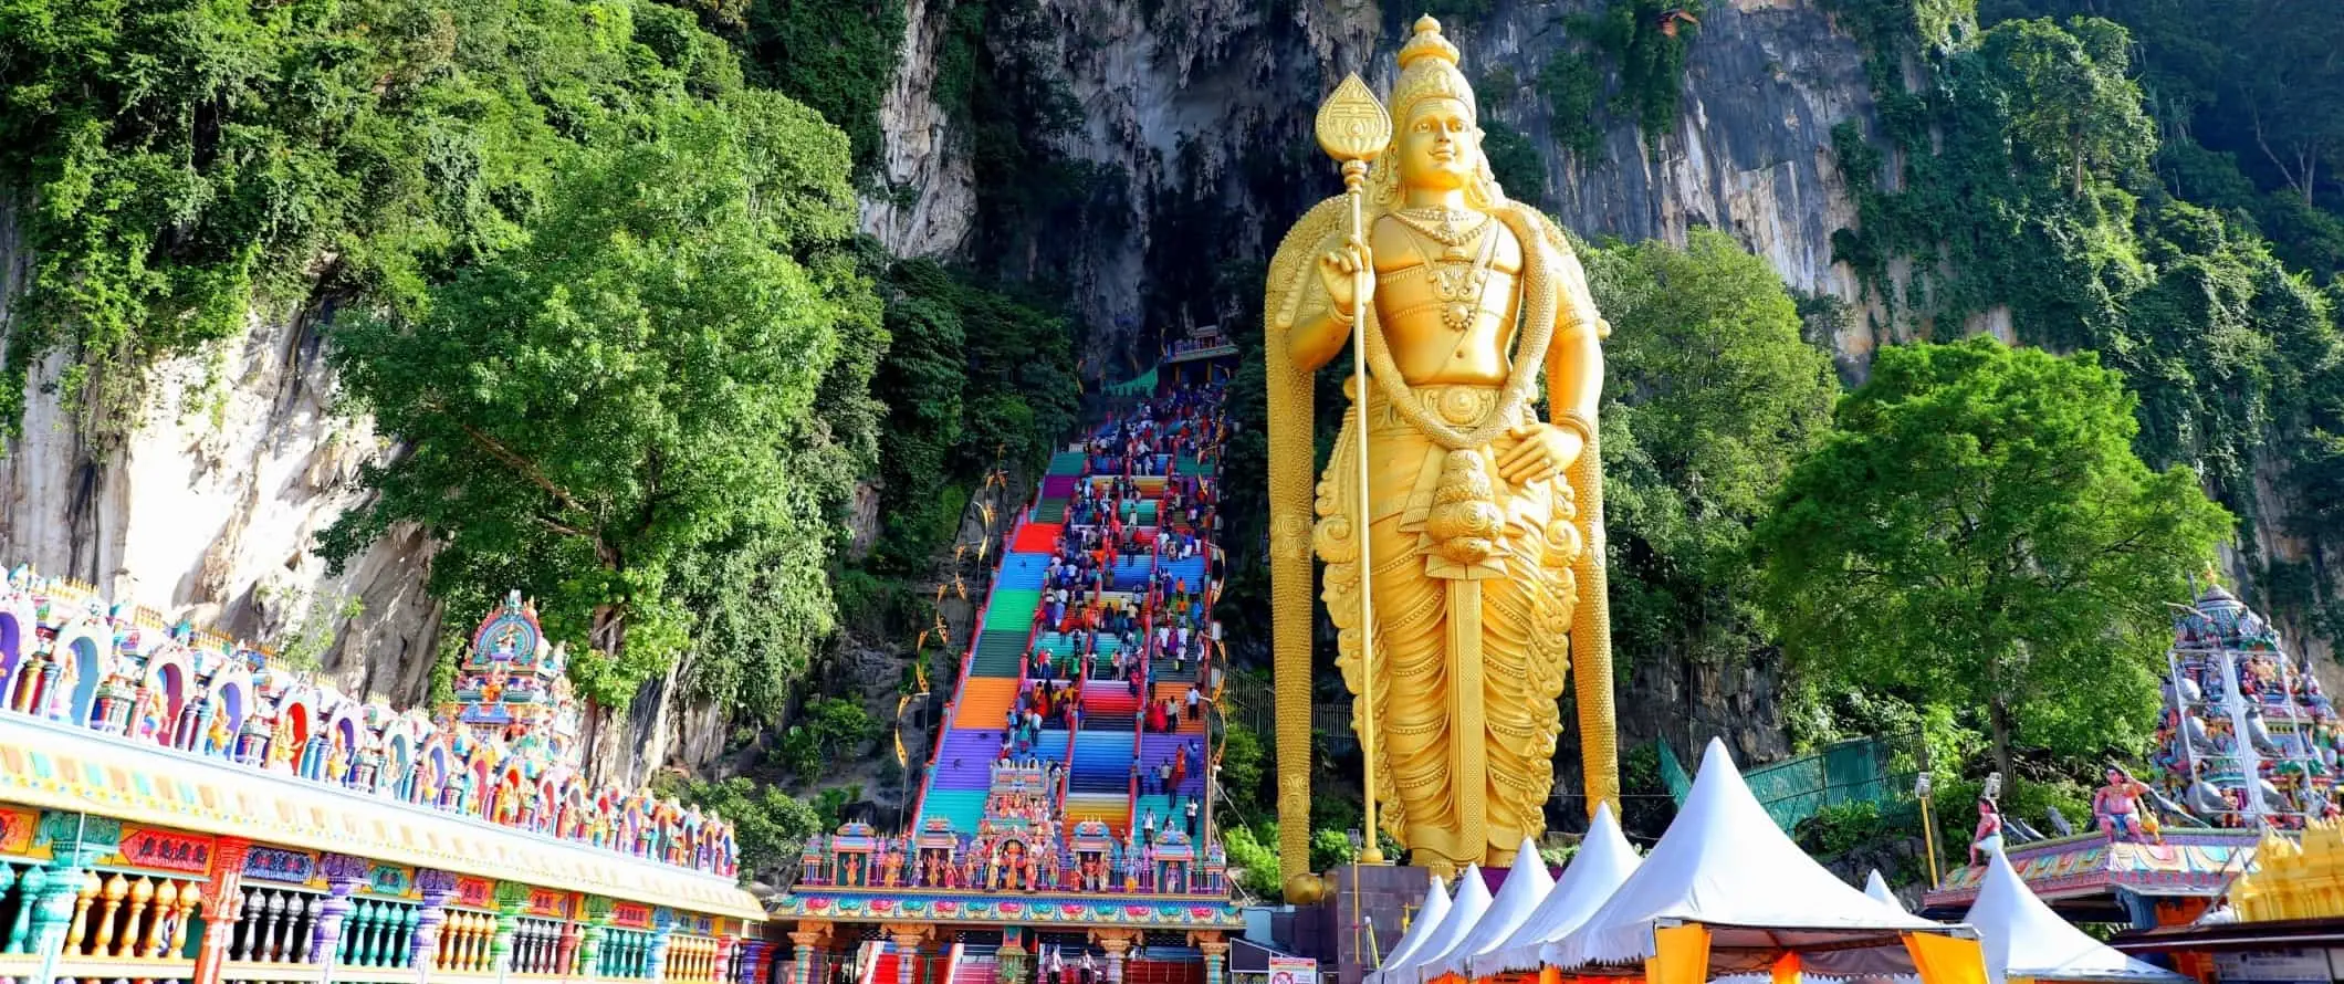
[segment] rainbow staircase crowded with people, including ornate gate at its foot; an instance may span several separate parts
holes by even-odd
[[[1221,984],[1221,405],[1212,328],[1109,391],[999,539],[905,829],[806,846],[769,916],[795,984]],[[992,546],[989,546],[992,553]]]

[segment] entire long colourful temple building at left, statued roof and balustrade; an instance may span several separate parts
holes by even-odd
[[[16,569],[0,595],[0,977],[757,979],[729,825],[591,787],[516,595],[436,717]]]

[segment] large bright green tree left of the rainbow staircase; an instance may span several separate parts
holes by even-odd
[[[757,644],[802,654],[832,628],[820,560],[860,457],[820,410],[867,415],[837,375],[867,380],[841,351],[877,342],[839,253],[846,169],[834,127],[748,91],[570,152],[525,244],[417,312],[335,328],[345,394],[403,450],[363,471],[377,499],[326,553],[422,525],[436,593],[532,593],[602,705],[713,642],[694,602],[781,609],[792,630]],[[729,569],[734,551],[757,569]]]

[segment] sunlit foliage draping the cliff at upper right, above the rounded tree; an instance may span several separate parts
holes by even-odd
[[[2253,574],[2288,588],[2269,597],[2278,614],[2344,630],[2330,595],[2344,544],[2344,342],[2335,288],[2281,260],[2323,255],[2323,239],[2274,248],[2257,234],[2250,185],[2192,141],[2194,117],[2154,115],[2171,103],[2133,77],[2119,23],[1976,30],[1960,2],[1833,7],[1871,45],[1880,98],[1880,134],[1835,134],[1861,223],[1833,248],[1894,328],[1950,335],[2006,309],[2023,342],[2098,351],[2140,396],[2135,450],[2194,466],[2241,518]],[[2206,42],[2253,45],[2234,30]],[[1906,63],[1927,70],[1924,87],[1906,89]],[[2208,201],[2220,211],[2185,197],[2206,190],[2224,190]],[[1910,276],[1892,276],[1903,260]],[[2274,499],[2290,504],[2283,518],[2262,515]],[[2281,551],[2264,529],[2297,544]]]

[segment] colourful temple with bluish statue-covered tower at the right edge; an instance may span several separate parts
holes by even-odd
[[[2006,843],[2013,825],[1981,799],[1976,862],[1950,872],[1927,911],[1969,904],[1976,921],[1988,900],[2025,895],[2046,914],[2126,925],[2117,951],[2201,984],[2344,979],[2335,705],[2222,586],[2175,609],[2142,775],[2110,766],[2089,829],[2028,843]],[[1995,904],[2011,907],[2023,904]]]

